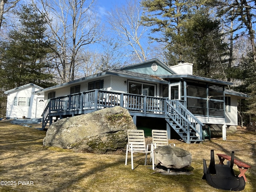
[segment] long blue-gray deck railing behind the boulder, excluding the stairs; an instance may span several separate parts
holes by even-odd
[[[164,114],[166,98],[90,90],[82,93],[51,98],[43,112],[43,126],[51,121],[50,114],[62,114],[68,111],[96,111],[101,108],[121,106],[129,111]],[[51,124],[51,122],[50,122]]]

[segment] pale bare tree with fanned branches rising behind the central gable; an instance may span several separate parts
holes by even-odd
[[[130,55],[140,61],[147,59],[149,44],[145,48],[142,44],[146,27],[142,25],[140,16],[142,8],[138,0],[126,0],[123,6],[113,9],[108,16],[108,22],[114,33],[120,38],[123,46],[130,46]]]

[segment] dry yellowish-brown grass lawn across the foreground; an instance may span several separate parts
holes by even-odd
[[[194,168],[191,175],[176,176],[155,173],[150,164],[144,166],[144,156],[140,154],[135,155],[135,169],[131,170],[130,161],[124,165],[124,151],[89,154],[43,147],[45,134],[0,121],[0,181],[7,184],[0,186],[1,192],[222,192],[202,180],[203,158],[209,164],[211,149],[215,154],[231,154],[234,150],[235,158],[252,166],[246,172],[248,182],[244,191],[253,192],[256,188],[255,132],[240,131],[228,135],[227,141],[214,138],[203,144],[172,140],[191,152]],[[217,156],[215,161],[218,162]],[[239,173],[236,165],[234,170]]]

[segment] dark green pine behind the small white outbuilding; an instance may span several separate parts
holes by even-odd
[[[28,83],[46,87],[52,78],[46,58],[54,44],[46,38],[44,17],[32,5],[22,6],[17,16],[20,28],[11,30],[9,41],[1,45],[3,78],[8,88]]]

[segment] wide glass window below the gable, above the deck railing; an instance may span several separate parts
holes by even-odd
[[[138,82],[129,82],[128,93],[155,96],[156,86],[152,84],[143,84]]]

